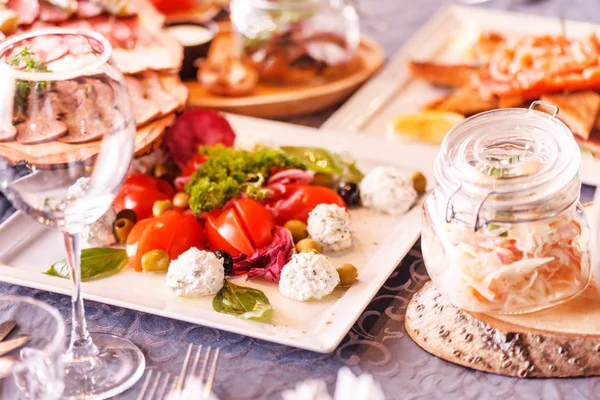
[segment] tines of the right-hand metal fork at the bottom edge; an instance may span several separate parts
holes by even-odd
[[[210,394],[212,393],[212,386],[215,381],[215,375],[217,373],[217,364],[219,362],[219,354],[221,353],[221,349],[217,348],[214,350],[211,347],[206,347],[206,353],[204,354],[204,358],[202,360],[202,368],[200,369],[200,374],[198,373],[198,364],[200,362],[200,356],[202,355],[202,345],[199,345],[196,349],[196,353],[194,355],[194,360],[190,366],[190,361],[192,359],[192,351],[194,349],[194,345],[190,344],[188,347],[188,351],[185,355],[185,359],[183,361],[183,366],[181,367],[181,373],[179,374],[179,379],[175,384],[175,393],[181,392],[184,390],[186,381],[189,378],[198,378],[200,383],[202,383],[204,387],[204,393],[202,394],[202,399],[208,399]],[[212,358],[212,363],[210,366],[210,371],[208,371],[208,363],[211,358],[211,352],[214,350],[214,355]],[[189,369],[189,370],[188,370]],[[206,372],[208,371],[208,376],[206,376]],[[206,378],[206,380],[205,380]]]

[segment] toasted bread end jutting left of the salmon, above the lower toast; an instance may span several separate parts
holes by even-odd
[[[420,61],[410,61],[408,67],[415,78],[424,79],[432,85],[455,88],[469,85],[478,70],[474,65]]]

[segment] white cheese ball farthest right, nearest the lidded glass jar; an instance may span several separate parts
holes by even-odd
[[[377,167],[360,183],[360,199],[364,207],[401,215],[415,204],[417,191],[410,176],[394,167]]]

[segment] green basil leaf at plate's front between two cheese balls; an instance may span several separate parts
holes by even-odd
[[[223,282],[223,287],[213,299],[213,308],[216,312],[259,322],[268,322],[273,310],[263,292],[234,285],[228,280]]]

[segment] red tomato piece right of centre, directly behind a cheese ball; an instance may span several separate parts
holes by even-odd
[[[344,199],[339,194],[324,186],[285,185],[283,199],[279,199],[277,202],[278,214],[275,222],[280,226],[292,219],[306,223],[308,213],[323,203],[346,207]]]

